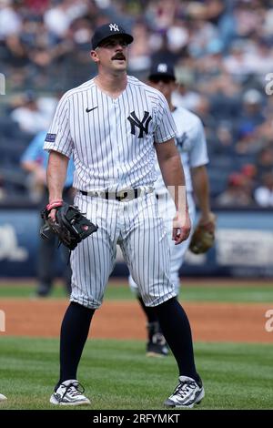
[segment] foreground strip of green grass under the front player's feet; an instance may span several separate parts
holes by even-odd
[[[93,410],[164,409],[177,382],[173,357],[148,359],[138,341],[86,343],[78,379]],[[273,347],[196,344],[207,396],[195,409],[273,409]],[[1,338],[1,409],[56,409],[48,404],[58,374],[58,341]]]

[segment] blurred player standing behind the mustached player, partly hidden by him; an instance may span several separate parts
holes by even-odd
[[[215,216],[210,211],[206,168],[208,162],[207,143],[201,120],[186,108],[174,107],[172,105],[171,95],[177,85],[173,66],[166,63],[157,63],[153,65],[148,76],[148,84],[158,89],[167,98],[168,106],[177,126],[175,140],[185,173],[187,204],[191,224],[194,224],[196,215],[195,201],[193,198],[194,191],[200,209],[199,224],[206,225],[206,228],[212,231],[215,228]],[[171,236],[171,219],[173,219],[175,215],[176,207],[166,189],[158,162],[156,162],[156,169],[158,178],[155,183],[155,190],[158,200],[158,209],[168,230],[171,251],[170,276],[178,295],[178,271],[183,263],[190,239],[185,240],[180,245],[174,245]],[[147,356],[166,356],[168,353],[167,343],[160,329],[156,312],[153,308],[147,307],[144,304],[132,276],[129,277],[129,284],[131,289],[136,293],[137,299],[147,316]]]

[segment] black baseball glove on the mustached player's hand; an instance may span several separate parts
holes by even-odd
[[[52,209],[56,209],[56,221],[49,217]],[[64,244],[69,250],[74,250],[81,240],[97,230],[97,226],[86,219],[77,207],[63,201],[46,205],[41,217],[45,221],[40,229],[41,238],[50,239],[51,232],[54,232],[59,245]]]

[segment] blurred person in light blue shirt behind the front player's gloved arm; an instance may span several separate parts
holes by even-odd
[[[48,161],[48,153],[43,149],[46,132],[39,132],[26,148],[23,157],[21,158],[21,166],[25,171],[32,174],[32,185],[35,186],[35,192],[39,193],[39,217],[40,211],[45,207],[48,200],[48,190],[46,187],[46,166]],[[74,164],[70,160],[67,168],[66,182],[64,187],[64,199],[66,202],[73,203],[74,189],[73,173]],[[40,219],[41,220],[41,219]],[[41,220],[41,225],[43,221]],[[38,297],[46,297],[52,291],[53,280],[56,276],[56,236],[51,233],[50,239],[39,239],[39,249],[37,254],[37,287],[35,294]],[[71,268],[67,260],[69,258],[69,250],[62,245],[64,269],[62,276],[65,280],[66,292],[71,292]]]

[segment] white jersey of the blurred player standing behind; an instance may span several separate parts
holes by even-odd
[[[187,191],[192,191],[190,168],[200,167],[208,162],[204,127],[199,117],[184,107],[177,107],[172,116],[177,126],[175,140],[184,168],[186,188]],[[159,166],[156,168],[158,179],[155,188],[157,193],[162,193],[166,191],[166,187]]]

